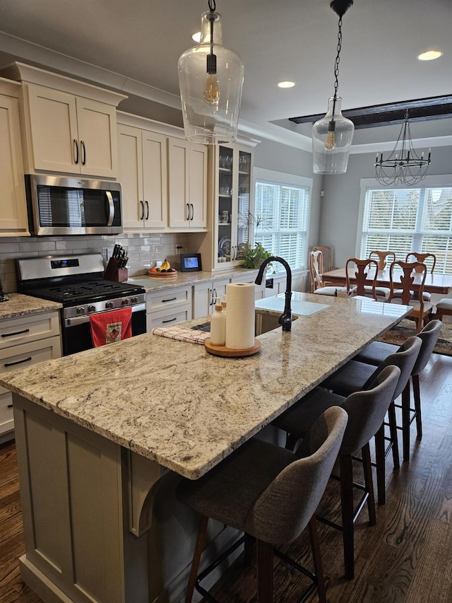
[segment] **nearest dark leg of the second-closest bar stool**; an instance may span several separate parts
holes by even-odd
[[[353,546],[353,473],[352,456],[339,455],[340,506],[342,510],[342,536],[344,544],[345,578],[352,580],[355,574]]]

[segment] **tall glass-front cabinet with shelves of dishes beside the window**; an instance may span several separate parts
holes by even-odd
[[[242,262],[249,236],[251,152],[219,146],[216,170],[217,214],[215,264]]]

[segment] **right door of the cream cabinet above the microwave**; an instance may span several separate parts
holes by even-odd
[[[116,109],[97,100],[79,97],[76,105],[81,173],[116,177]]]

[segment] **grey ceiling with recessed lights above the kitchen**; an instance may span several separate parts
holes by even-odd
[[[146,103],[165,105],[177,120],[177,60],[206,10],[207,0],[1,0],[0,66],[20,59],[98,81],[145,98],[143,114]],[[217,10],[223,42],[245,66],[241,130],[310,148],[310,124],[288,118],[325,112],[333,94],[338,16],[329,0],[217,0]],[[355,0],[343,17],[343,109],[450,95],[451,23],[451,0]],[[444,55],[418,61],[427,49]],[[280,89],[281,80],[297,85]],[[354,144],[395,140],[399,129],[359,131]],[[452,120],[415,124],[412,134],[451,144]]]

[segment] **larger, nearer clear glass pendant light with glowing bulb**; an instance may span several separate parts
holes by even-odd
[[[215,0],[201,15],[201,40],[179,58],[179,87],[186,139],[226,144],[237,138],[244,66],[222,45],[221,16]]]

